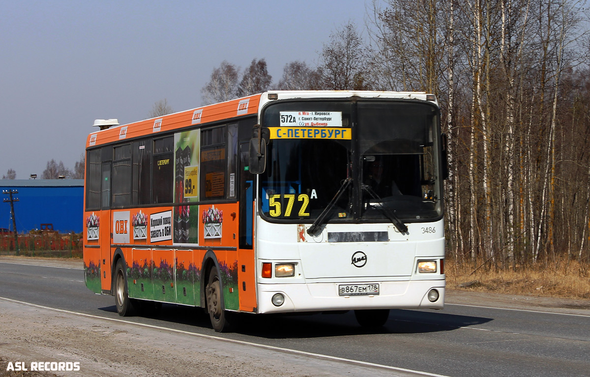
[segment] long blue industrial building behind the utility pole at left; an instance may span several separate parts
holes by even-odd
[[[0,179],[0,228],[12,231],[9,199],[5,190],[17,190],[14,212],[17,231],[26,233],[39,229],[41,224],[53,224],[60,233],[82,231],[84,180],[83,179]]]

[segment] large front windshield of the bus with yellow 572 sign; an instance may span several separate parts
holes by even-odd
[[[270,221],[412,222],[442,215],[434,105],[277,102],[264,109],[262,122],[270,142],[261,212]]]

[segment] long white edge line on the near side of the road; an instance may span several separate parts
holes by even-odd
[[[281,348],[281,347],[268,346],[268,345],[263,345],[263,344],[258,344],[258,343],[252,343],[252,342],[245,342],[244,340],[228,339],[228,338],[225,338],[225,337],[199,334],[199,333],[189,332],[189,331],[185,331],[185,330],[170,329],[169,327],[155,326],[153,324],[137,323],[137,322],[127,321],[127,320],[123,320],[123,319],[108,318],[108,317],[95,316],[93,314],[72,312],[71,310],[57,309],[57,308],[54,308],[54,307],[48,307],[48,306],[42,306],[42,305],[37,305],[37,304],[31,304],[31,303],[27,303],[25,301],[8,299],[6,297],[0,297],[0,300],[6,300],[6,301],[11,301],[13,303],[18,303],[18,304],[24,304],[24,305],[28,305],[28,306],[39,307],[41,309],[54,310],[55,312],[75,314],[75,315],[78,315],[78,316],[84,316],[84,317],[96,318],[96,319],[103,319],[103,320],[108,320],[108,321],[113,321],[113,322],[135,324],[136,326],[148,327],[150,329],[168,330],[170,332],[175,332],[175,333],[181,333],[181,334],[186,334],[186,335],[193,335],[193,336],[203,337],[205,339],[221,340],[222,342],[229,342],[229,343],[234,343],[234,344],[239,344],[239,345],[245,345],[245,346],[254,346],[254,347],[258,347],[258,348],[264,348],[264,349],[269,349],[269,350],[279,351],[279,352],[294,353],[296,355],[313,356],[313,357],[319,358],[319,359],[326,359],[326,360],[333,360],[333,361],[339,361],[339,362],[346,362],[346,363],[352,363],[352,364],[357,364],[357,365],[362,365],[362,366],[371,366],[373,368],[389,369],[391,371],[416,373],[416,374],[422,375],[422,376],[450,377],[450,376],[445,376],[445,375],[437,375],[435,373],[414,371],[412,369],[398,368],[396,366],[389,366],[389,365],[369,363],[369,362],[359,361],[359,360],[338,358],[336,356],[322,355],[321,353],[305,352],[305,351],[299,351],[299,350],[294,350],[294,349],[289,349],[289,348]]]

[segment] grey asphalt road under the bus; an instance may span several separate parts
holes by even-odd
[[[91,293],[83,280],[81,268],[0,261],[0,297],[120,318],[114,297]],[[218,334],[201,310],[166,304],[157,317],[127,320],[444,376],[590,375],[588,308],[481,300],[456,294],[441,311],[392,310],[376,331],[362,329],[347,313],[250,315],[240,332]]]

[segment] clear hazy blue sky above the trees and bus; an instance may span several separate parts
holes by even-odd
[[[94,119],[146,119],[167,99],[201,105],[201,88],[227,60],[266,58],[274,83],[293,60],[317,63],[329,35],[363,29],[371,0],[0,0],[0,178],[67,168]]]

